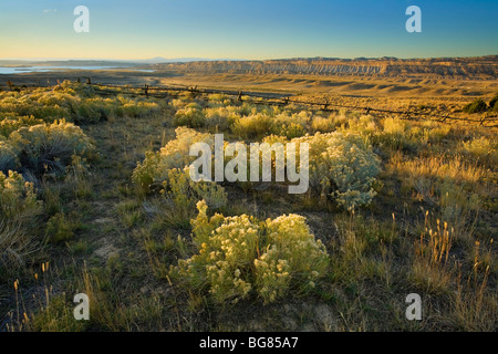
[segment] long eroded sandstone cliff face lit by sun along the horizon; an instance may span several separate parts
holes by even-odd
[[[268,61],[203,61],[155,64],[153,69],[204,74],[313,74],[391,77],[498,79],[498,55],[480,58],[289,59]]]

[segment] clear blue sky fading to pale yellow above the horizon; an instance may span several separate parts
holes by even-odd
[[[90,9],[90,33],[73,10]],[[408,33],[408,6],[422,33]],[[0,0],[0,59],[498,54],[496,0]]]

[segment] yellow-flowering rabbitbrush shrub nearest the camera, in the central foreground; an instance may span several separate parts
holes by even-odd
[[[179,260],[172,272],[195,289],[207,288],[218,303],[237,302],[251,290],[266,303],[292,290],[304,294],[328,268],[324,246],[315,241],[301,216],[259,222],[247,215],[208,218],[205,201],[197,209],[191,223],[199,252]]]

